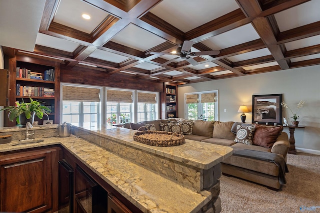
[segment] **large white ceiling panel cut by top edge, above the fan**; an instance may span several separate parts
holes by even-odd
[[[183,32],[227,14],[235,0],[163,0],[150,11]]]

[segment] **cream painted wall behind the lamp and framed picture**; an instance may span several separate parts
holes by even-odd
[[[299,126],[294,132],[297,150],[309,150],[320,154],[320,65],[304,68],[281,70],[269,73],[192,83],[178,86],[178,114],[184,117],[184,93],[219,90],[219,120],[240,122],[240,105],[247,105],[250,113],[246,122],[251,122],[252,95],[282,94],[293,110],[303,100],[305,105],[300,109]],[[227,112],[224,112],[227,109]],[[290,123],[292,115],[282,109],[282,117]],[[288,129],[284,128],[288,133]]]

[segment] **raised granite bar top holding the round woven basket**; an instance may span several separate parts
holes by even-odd
[[[79,127],[73,127],[79,128]],[[209,169],[232,155],[232,148],[199,141],[185,140],[179,146],[155,147],[133,140],[136,130],[102,126],[99,129],[83,129],[90,134],[99,135],[127,146],[135,147],[200,169]]]

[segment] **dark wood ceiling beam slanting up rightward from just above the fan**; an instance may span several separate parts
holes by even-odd
[[[236,9],[186,32],[185,40],[196,43],[249,22],[241,9]]]

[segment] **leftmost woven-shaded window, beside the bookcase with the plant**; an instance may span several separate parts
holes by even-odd
[[[75,126],[98,127],[100,124],[100,89],[62,85],[62,121]]]

